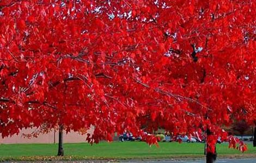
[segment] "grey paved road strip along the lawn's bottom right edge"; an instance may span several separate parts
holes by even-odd
[[[121,161],[122,162],[122,161]],[[205,160],[192,160],[192,161],[168,161],[168,160],[160,160],[160,161],[124,161],[123,163],[205,163]],[[216,163],[255,163],[256,159],[218,159]]]

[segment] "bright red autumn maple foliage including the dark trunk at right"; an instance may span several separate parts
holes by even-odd
[[[217,137],[227,138],[223,125],[256,121],[255,7],[246,0],[1,1],[0,133],[94,126],[93,143],[162,127],[205,134],[212,162]]]

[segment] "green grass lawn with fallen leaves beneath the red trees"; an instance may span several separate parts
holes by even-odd
[[[1,160],[80,160],[80,159],[158,159],[158,158],[200,158],[204,157],[203,143],[161,142],[160,147],[149,147],[144,142],[101,142],[93,146],[88,143],[64,144],[63,158],[54,157],[57,144],[14,144],[0,145]],[[217,145],[218,156],[256,157],[256,148],[248,145],[248,151],[241,153],[229,149],[227,143]]]

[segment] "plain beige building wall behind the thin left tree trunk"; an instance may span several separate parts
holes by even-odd
[[[51,131],[47,134],[40,134],[38,137],[32,137],[28,139],[22,136],[22,134],[31,134],[35,129],[23,129],[19,135],[13,135],[11,137],[0,138],[0,143],[11,144],[11,143],[58,143],[58,130]],[[88,133],[93,133],[93,129],[88,130]],[[55,135],[55,136],[54,136]],[[77,132],[71,131],[66,134],[63,133],[64,143],[78,143],[86,142],[87,135],[80,135]]]

